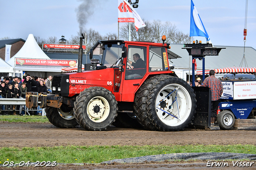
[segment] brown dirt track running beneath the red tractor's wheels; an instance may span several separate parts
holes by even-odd
[[[201,130],[201,129],[185,129],[184,131],[180,131],[180,132],[157,132],[157,131],[148,131],[144,129],[128,129],[128,128],[110,127],[106,131],[87,131],[80,127],[73,128],[73,129],[61,129],[61,128],[54,127],[50,123],[6,123],[6,122],[0,122],[0,129],[1,129],[0,147],[66,146],[70,144],[78,145],[78,146],[158,145],[158,144],[164,144],[164,145],[253,144],[253,145],[256,145],[255,130],[210,131],[210,130]],[[135,168],[137,166],[138,165],[129,165],[129,166],[127,165],[122,168]],[[148,165],[144,164],[143,166],[140,166],[140,167],[138,166],[137,168],[149,169],[151,166],[152,164],[148,164]],[[81,168],[94,169],[97,167],[110,168],[110,169],[118,168],[117,166],[113,166],[113,167],[82,166],[82,167],[78,168],[73,166],[71,167],[65,166],[63,167],[63,169],[81,169]],[[152,168],[157,169],[160,167],[161,165],[158,165]],[[188,165],[185,167],[187,168],[190,167],[190,169],[192,169],[191,165]],[[196,166],[196,167],[198,168],[201,167],[201,169],[205,168],[205,166],[202,166],[202,165]],[[1,169],[2,168],[0,167],[0,170]],[[59,167],[57,169],[62,169],[62,168]]]

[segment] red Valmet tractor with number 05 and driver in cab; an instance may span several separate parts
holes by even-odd
[[[92,59],[81,71],[55,75],[52,95],[39,97],[46,117],[56,127],[87,130],[142,126],[148,130],[178,131],[191,123],[196,99],[190,85],[169,67],[170,44],[101,41],[101,61]],[[82,47],[80,38],[80,47]],[[106,66],[105,61],[116,61]],[[114,59],[114,60],[113,60]],[[108,60],[110,61],[110,60]],[[134,61],[134,62],[132,62]],[[27,106],[36,107],[27,95]]]

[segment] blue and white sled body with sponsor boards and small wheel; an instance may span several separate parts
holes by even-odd
[[[222,129],[233,127],[235,119],[256,119],[256,80],[224,79],[217,122]]]

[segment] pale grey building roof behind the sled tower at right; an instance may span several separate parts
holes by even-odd
[[[192,68],[192,58],[190,58],[189,63],[189,55],[186,49],[182,49],[183,44],[170,44],[170,51],[179,55],[182,58],[171,59],[173,62],[172,65],[175,68],[188,68],[190,64],[190,68]],[[216,68],[224,68],[224,67],[239,67],[243,55],[245,54],[245,58],[248,64],[248,67],[255,67],[255,58],[256,58],[256,50],[252,47],[237,47],[237,46],[220,46],[214,45],[214,47],[218,48],[226,48],[222,49],[218,56],[205,56],[205,68],[206,69],[216,69]],[[202,69],[202,61],[196,59],[197,68]],[[245,67],[244,63],[242,67]]]

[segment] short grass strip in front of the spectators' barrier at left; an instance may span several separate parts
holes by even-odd
[[[49,122],[46,116],[14,116],[0,115],[0,121],[6,122]]]

